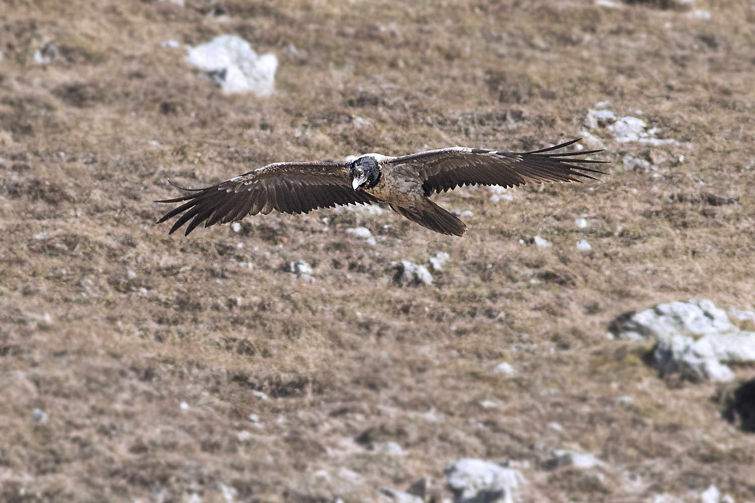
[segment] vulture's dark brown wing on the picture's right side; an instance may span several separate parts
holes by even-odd
[[[606,174],[579,164],[607,161],[575,158],[577,155],[594,154],[600,150],[553,153],[579,140],[581,138],[533,152],[452,147],[392,158],[390,163],[416,166],[420,179],[424,180],[422,186],[425,195],[464,185],[515,187],[526,182],[578,182],[579,177],[595,179],[587,173]]]

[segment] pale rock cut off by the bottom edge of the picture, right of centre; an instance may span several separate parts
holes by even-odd
[[[445,470],[455,503],[510,503],[519,500],[519,486],[526,483],[519,470],[481,459],[461,459]]]

